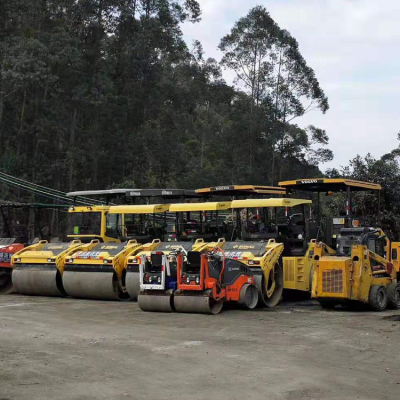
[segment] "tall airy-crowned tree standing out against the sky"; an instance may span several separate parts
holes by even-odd
[[[268,138],[273,147],[271,181],[274,180],[276,154],[281,155],[281,178],[283,148],[289,139],[287,136],[291,135],[288,124],[315,109],[325,113],[329,108],[328,99],[314,71],[302,57],[296,39],[281,29],[264,7],[255,7],[241,18],[231,33],[222,38],[219,48],[224,53],[222,66],[236,72],[236,84],[247,90],[252,102],[249,162],[252,163],[254,149],[253,105],[263,104],[274,119]]]

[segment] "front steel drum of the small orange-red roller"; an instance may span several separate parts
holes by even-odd
[[[209,295],[175,295],[174,307],[178,312],[213,314],[221,312],[224,302],[216,301]]]

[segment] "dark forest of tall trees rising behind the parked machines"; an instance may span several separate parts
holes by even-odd
[[[328,102],[296,40],[256,7],[219,65],[183,40],[200,15],[196,0],[0,0],[0,167],[66,191],[319,175],[326,132],[290,119]]]

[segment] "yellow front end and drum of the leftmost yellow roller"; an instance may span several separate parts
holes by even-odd
[[[27,246],[15,253],[12,283],[16,292],[25,295],[65,296],[62,284],[65,254],[82,245],[79,240],[71,243],[48,243],[47,240]]]

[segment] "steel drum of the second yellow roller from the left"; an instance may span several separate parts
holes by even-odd
[[[122,291],[113,272],[64,271],[63,285],[71,297],[95,300],[121,300]]]

